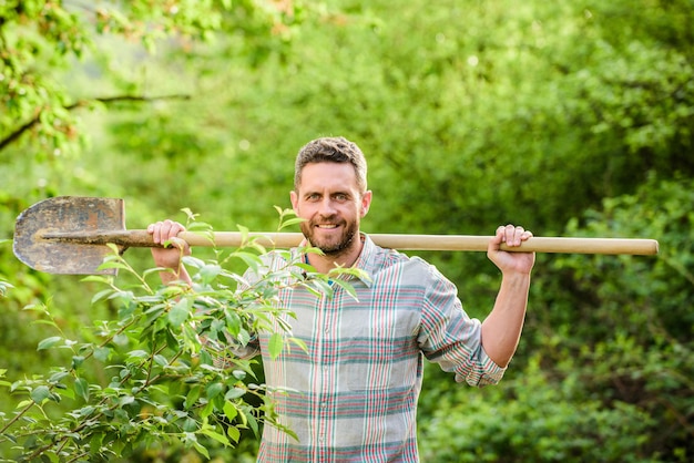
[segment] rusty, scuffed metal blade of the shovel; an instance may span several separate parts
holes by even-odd
[[[52,233],[125,230],[123,199],[61,196],[34,204],[17,218],[14,255],[29,267],[49,274],[115,275],[94,270],[111,249],[103,244],[44,239]]]

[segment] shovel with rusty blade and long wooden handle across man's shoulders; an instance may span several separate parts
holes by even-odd
[[[370,234],[374,243],[400,250],[486,251],[491,236],[470,235],[389,235]],[[274,248],[298,246],[300,233],[182,232],[178,237],[191,246],[241,247],[253,238]],[[114,275],[115,269],[99,269],[112,253],[130,247],[159,246],[146,230],[126,230],[124,202],[118,198],[61,196],[44,199],[21,213],[14,228],[14,255],[29,267],[49,274]],[[654,239],[532,237],[519,247],[501,249],[519,253],[574,253],[655,255]]]

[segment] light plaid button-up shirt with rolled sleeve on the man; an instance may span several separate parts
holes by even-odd
[[[293,257],[300,256],[294,249]],[[268,265],[278,268],[275,255]],[[292,335],[308,347],[275,360],[269,333],[236,353],[263,354],[280,420],[298,441],[265,426],[259,462],[417,462],[417,400],[422,359],[482,387],[504,369],[487,357],[481,323],[462,310],[453,284],[420,258],[376,246],[364,236],[355,266],[370,277],[353,278],[358,300],[334,286],[333,298],[304,289],[280,294]]]

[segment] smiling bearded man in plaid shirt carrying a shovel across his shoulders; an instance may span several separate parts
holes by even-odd
[[[417,462],[422,359],[481,387],[497,383],[516,352],[534,254],[502,251],[500,245],[519,246],[532,234],[512,225],[497,229],[488,256],[502,274],[499,294],[483,322],[470,319],[456,287],[433,266],[380,248],[359,232],[372,198],[366,171],[359,147],[343,137],[315,140],[296,158],[292,206],[305,219],[306,243],[323,254],[294,249],[293,256],[320,272],[355,266],[368,278],[350,281],[358,300],[339,287],[331,299],[304,290],[280,295],[296,313],[293,336],[307,352],[293,349],[273,360],[269,333],[258,333],[256,344],[239,352],[259,351],[267,384],[295,391],[277,398],[277,411],[298,441],[266,426],[258,461]],[[183,226],[165,220],[147,229],[155,243],[172,240],[178,248],[152,250],[157,266],[173,269],[162,274],[164,282],[190,282],[180,261],[190,249],[175,238]]]

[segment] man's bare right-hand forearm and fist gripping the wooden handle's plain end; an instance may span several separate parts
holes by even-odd
[[[531,236],[532,233],[523,227],[499,227],[487,250],[489,259],[501,270],[501,287],[492,311],[482,322],[482,347],[489,358],[502,368],[509,364],[518,348],[535,256],[534,253],[507,253],[499,247],[501,243],[520,246]]]

